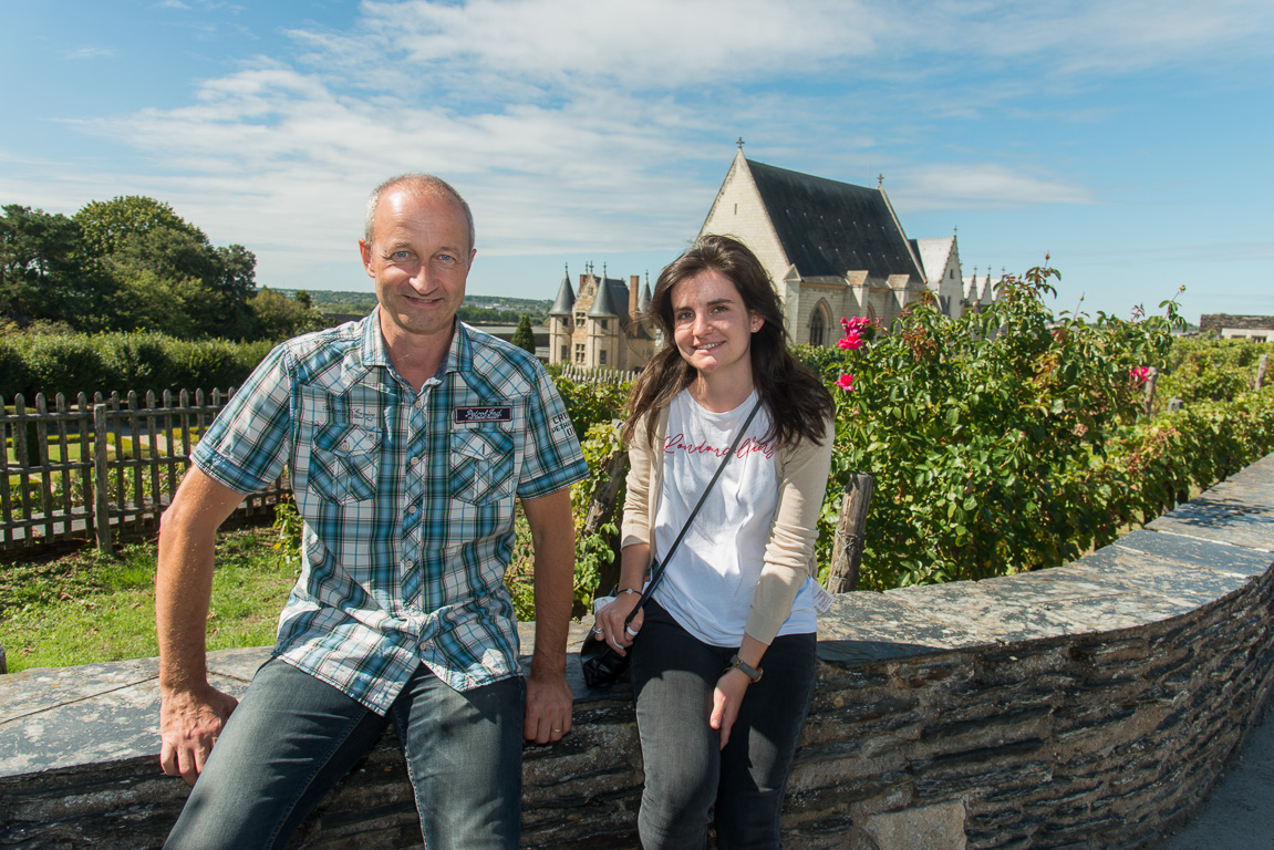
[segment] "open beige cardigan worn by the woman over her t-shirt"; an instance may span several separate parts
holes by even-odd
[[[668,432],[668,408],[660,410],[655,429],[655,445],[659,446]],[[796,593],[814,563],[818,514],[827,492],[834,435],[836,423],[828,419],[824,442],[805,440],[780,446],[775,452],[778,505],[769,526],[769,540],[766,543],[766,563],[753,591],[752,613],[744,628],[767,646],[791,614]],[[638,427],[628,447],[628,496],[624,501],[620,545],[648,545],[664,478],[664,452],[655,451],[652,459],[646,432]]]

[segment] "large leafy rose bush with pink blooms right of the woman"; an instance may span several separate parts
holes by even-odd
[[[1032,269],[954,321],[930,301],[889,334],[847,328],[843,376],[824,371],[837,424],[822,563],[851,472],[877,479],[866,587],[1047,567],[1112,539],[1117,482],[1094,472],[1139,415],[1142,370],[1164,362],[1176,306],[1139,321],[1056,317],[1041,294],[1057,277]]]

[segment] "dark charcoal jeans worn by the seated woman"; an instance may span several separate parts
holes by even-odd
[[[712,691],[738,650],[703,644],[646,603],[632,647],[645,850],[703,850],[710,821],[720,850],[780,846],[784,789],[814,696],[815,644],[813,633],[775,638],[721,749],[721,733],[708,725]]]

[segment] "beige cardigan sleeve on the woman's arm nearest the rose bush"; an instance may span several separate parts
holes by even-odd
[[[818,515],[832,468],[834,422],[826,423],[823,435],[823,442],[805,440],[798,443],[780,470],[778,506],[766,543],[766,563],[761,568],[752,595],[752,613],[744,628],[767,646],[791,614],[792,601],[814,561]]]

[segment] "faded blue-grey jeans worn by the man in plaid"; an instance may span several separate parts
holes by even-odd
[[[429,850],[517,847],[526,686],[448,688],[423,664],[390,715]],[[283,847],[367,753],[382,717],[270,659],[231,715],[166,847]]]

